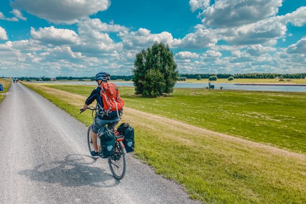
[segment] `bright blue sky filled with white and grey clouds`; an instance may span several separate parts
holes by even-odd
[[[131,74],[168,43],[181,73],[306,72],[306,0],[0,2],[0,75]]]

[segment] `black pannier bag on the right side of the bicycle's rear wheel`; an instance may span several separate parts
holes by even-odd
[[[129,123],[121,123],[118,132],[124,136],[123,144],[126,152],[132,152],[135,148],[134,128]]]

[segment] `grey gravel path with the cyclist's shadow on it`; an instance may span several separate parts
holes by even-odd
[[[0,203],[198,203],[131,156],[115,180],[107,159],[89,157],[86,134],[84,124],[12,84],[0,104]]]

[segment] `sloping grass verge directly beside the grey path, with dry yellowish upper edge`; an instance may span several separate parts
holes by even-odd
[[[92,122],[91,113],[79,114],[85,96],[26,85],[83,123]],[[306,202],[303,155],[131,109],[122,122],[135,127],[135,155],[203,203]]]

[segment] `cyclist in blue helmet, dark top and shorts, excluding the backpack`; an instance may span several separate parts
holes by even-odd
[[[109,129],[115,129],[116,124],[120,121],[116,111],[105,114],[103,99],[101,98],[101,84],[108,83],[110,81],[111,75],[107,72],[99,72],[95,76],[98,87],[94,89],[90,96],[86,99],[84,106],[80,109],[81,112],[85,111],[87,107],[93,103],[94,100],[97,102],[98,114],[95,116],[93,123],[91,125],[91,139],[94,146],[94,151],[91,151],[91,156],[93,158],[99,158],[98,154],[98,144],[97,144],[97,133],[98,130],[109,124]],[[119,111],[119,115],[122,115],[122,110]]]

